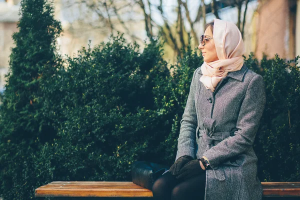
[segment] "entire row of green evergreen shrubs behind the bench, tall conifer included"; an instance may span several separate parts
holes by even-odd
[[[182,49],[171,65],[158,39],[140,50],[119,34],[62,60],[52,5],[23,0],[21,7],[0,106],[3,199],[32,199],[54,180],[131,180],[135,160],[170,165],[192,73],[203,62],[198,51]],[[244,58],[265,80],[254,142],[261,181],[300,179],[297,59]]]

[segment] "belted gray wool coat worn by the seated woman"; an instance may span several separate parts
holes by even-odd
[[[212,92],[199,81],[201,75],[199,67],[182,115],[176,159],[207,157],[212,169],[206,170],[204,200],[262,199],[253,142],[265,105],[263,78],[244,64]]]

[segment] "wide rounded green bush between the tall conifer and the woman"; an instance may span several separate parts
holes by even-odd
[[[68,58],[55,85],[65,94],[58,100],[64,120],[57,122],[57,139],[36,156],[36,163],[49,163],[40,166],[48,177],[128,180],[132,161],[157,160],[165,126],[153,110],[152,87],[169,76],[161,53],[158,42],[140,53],[118,35]]]

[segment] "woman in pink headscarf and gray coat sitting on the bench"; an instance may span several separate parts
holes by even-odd
[[[176,159],[154,182],[153,197],[262,199],[253,142],[265,105],[263,78],[243,63],[235,24],[214,19],[200,38],[204,62],[193,73]]]

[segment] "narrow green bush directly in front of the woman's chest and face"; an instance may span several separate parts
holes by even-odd
[[[177,62],[170,66],[173,69],[171,76],[157,79],[153,88],[157,114],[165,115],[165,123],[170,124],[165,131],[166,138],[161,142],[159,151],[162,161],[172,164],[177,151],[177,138],[180,129],[180,120],[186,104],[189,86],[194,70],[203,63],[196,49],[181,49],[183,56],[177,57]]]

